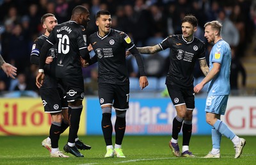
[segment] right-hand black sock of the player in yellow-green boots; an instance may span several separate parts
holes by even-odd
[[[126,127],[125,118],[120,118],[116,116],[116,123],[115,123],[116,145],[122,145],[122,141],[124,139],[125,127]]]

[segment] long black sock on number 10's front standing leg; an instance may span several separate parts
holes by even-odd
[[[79,129],[80,116],[83,110],[83,106],[72,107],[71,115],[70,115],[70,127],[68,134],[68,142],[75,143],[75,139],[77,138],[77,132]]]

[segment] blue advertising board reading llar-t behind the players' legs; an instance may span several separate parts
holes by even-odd
[[[86,134],[102,134],[102,112],[98,98],[86,98],[86,103]],[[195,104],[193,134],[211,134],[211,127],[205,122],[205,99],[198,98]],[[172,134],[172,121],[175,116],[175,107],[170,98],[131,98],[126,116],[125,134]],[[112,109],[113,124],[115,118],[115,109]]]

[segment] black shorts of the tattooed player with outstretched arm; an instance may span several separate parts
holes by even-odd
[[[166,84],[170,98],[174,106],[186,104],[187,109],[195,108],[195,93],[192,88],[182,88],[175,84]]]

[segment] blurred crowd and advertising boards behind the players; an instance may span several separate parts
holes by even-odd
[[[232,91],[228,100],[227,114],[223,120],[236,134],[256,135],[256,56],[255,56],[255,1],[207,1],[207,0],[163,0],[163,1],[0,1],[0,52],[8,63],[17,66],[19,75],[12,80],[0,70],[0,136],[47,135],[51,118],[44,113],[44,107],[35,87],[37,68],[29,65],[29,55],[33,40],[44,33],[40,17],[44,13],[54,13],[58,22],[70,19],[72,8],[83,4],[90,9],[91,22],[88,35],[97,30],[94,15],[100,9],[112,13],[113,28],[125,31],[137,47],[154,45],[164,37],[180,34],[180,19],[187,13],[194,14],[198,20],[196,36],[204,39],[204,23],[219,18],[225,11],[233,28],[239,33],[239,42],[230,43],[237,58],[243,63],[247,73],[246,86]],[[237,8],[240,12],[237,13]],[[224,38],[225,39],[225,38]],[[227,38],[228,39],[228,38]],[[211,45],[207,44],[211,49]],[[127,59],[131,76],[131,100],[127,113],[127,134],[171,134],[175,109],[170,98],[164,95],[164,75],[168,70],[168,51],[159,56],[143,55],[150,86],[145,91],[138,89],[138,73],[132,57]],[[207,52],[206,56],[209,55]],[[93,56],[93,54],[92,54]],[[152,58],[153,57],[153,58]],[[160,57],[160,58],[156,58]],[[149,66],[149,67],[148,67]],[[81,116],[79,134],[102,134],[100,129],[101,111],[97,99],[97,87],[93,86],[94,71],[97,66],[83,69],[86,98]],[[202,73],[195,68],[195,81],[202,79]],[[241,75],[238,81],[241,82]],[[25,83],[24,90],[19,83]],[[205,122],[205,90],[196,96],[196,109],[193,119],[193,134],[211,134],[211,127]],[[115,113],[113,112],[113,122]],[[67,134],[67,131],[65,132]]]

